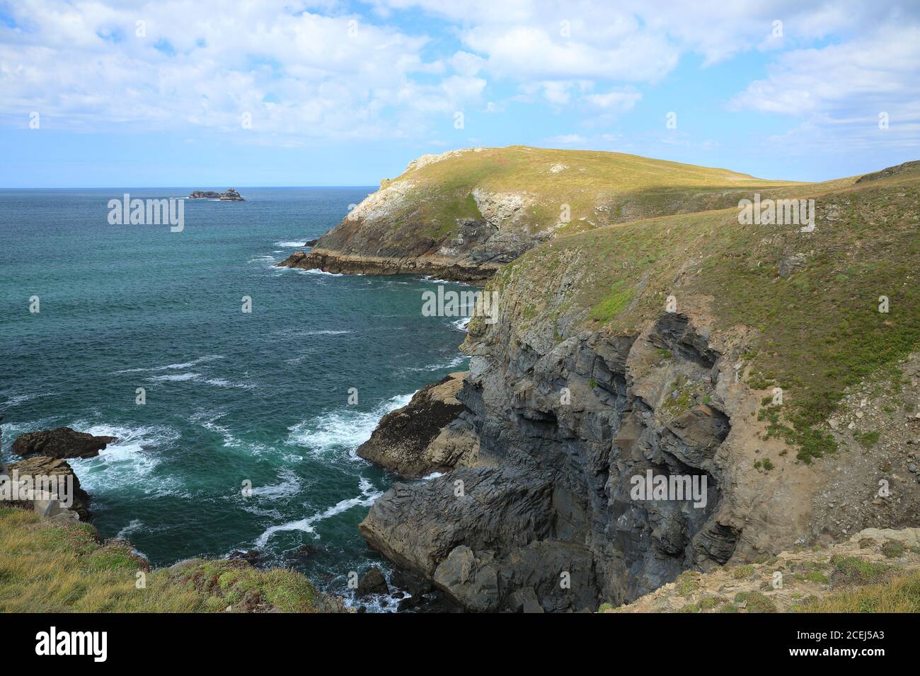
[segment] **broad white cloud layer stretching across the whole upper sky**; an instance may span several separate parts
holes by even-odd
[[[820,129],[828,139],[856,134],[882,110],[891,114],[892,130],[900,125],[897,133],[920,123],[920,6],[372,6],[361,17],[336,0],[262,0],[232,10],[217,0],[7,4],[18,28],[0,24],[0,117],[25,126],[37,110],[43,128],[214,130],[251,143],[302,143],[437,137],[454,111],[496,112],[513,100],[582,116],[560,118],[563,129],[597,129],[641,108],[643,91],[673,76],[688,54],[708,65],[764,52],[771,62],[765,76],[730,109],[798,116],[800,130]],[[144,38],[135,36],[139,20]],[[772,34],[775,21],[782,37]],[[812,47],[815,40],[820,47]],[[244,114],[252,130],[242,128]]]

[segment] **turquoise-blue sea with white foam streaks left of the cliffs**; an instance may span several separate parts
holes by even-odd
[[[104,537],[156,566],[256,547],[347,593],[351,570],[385,567],[357,525],[394,478],[354,449],[465,366],[463,333],[421,315],[441,282],[273,267],[373,188],[237,188],[187,201],[181,233],[108,223],[123,192],[191,189],[0,190],[4,456],[30,430],[116,436],[71,461]]]

